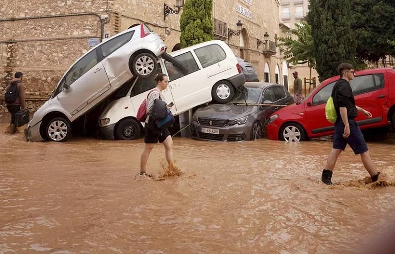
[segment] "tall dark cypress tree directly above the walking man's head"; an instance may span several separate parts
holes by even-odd
[[[355,64],[355,38],[349,0],[310,0],[316,70],[323,81],[337,75],[337,66]]]

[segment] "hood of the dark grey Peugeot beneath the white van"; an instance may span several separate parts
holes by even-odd
[[[243,106],[231,104],[212,104],[196,110],[195,117],[236,120],[250,115],[257,110],[257,106]]]

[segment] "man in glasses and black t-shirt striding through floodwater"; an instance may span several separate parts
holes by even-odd
[[[350,81],[354,79],[355,75],[353,65],[341,63],[337,70],[340,79],[332,89],[332,98],[337,113],[333,149],[328,156],[325,169],[322,171],[321,180],[327,185],[332,185],[332,171],[335,168],[337,158],[348,144],[355,154],[361,155],[363,166],[368,170],[372,181],[375,182],[380,172],[376,171],[362,132],[354,120],[358,112],[361,112],[368,118],[371,118],[372,114],[361,107],[355,106],[355,99],[350,86]]]

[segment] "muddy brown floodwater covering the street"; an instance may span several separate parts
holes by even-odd
[[[158,145],[156,181],[137,177],[141,139],[26,143],[0,128],[1,254],[359,253],[395,219],[394,140],[368,144],[388,187],[365,184],[350,148],[326,187],[331,142],[175,138],[183,174],[163,177]]]

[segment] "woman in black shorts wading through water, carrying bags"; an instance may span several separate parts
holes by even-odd
[[[145,120],[145,138],[144,138],[144,149],[141,154],[141,160],[140,160],[140,177],[147,177],[149,175],[146,174],[146,166],[148,162],[148,158],[150,156],[150,153],[152,149],[155,147],[155,144],[161,143],[163,144],[165,148],[165,156],[167,163],[169,165],[169,168],[167,171],[177,171],[177,167],[174,165],[174,159],[173,159],[173,140],[170,135],[170,131],[168,128],[163,128],[160,129],[157,127],[155,120],[152,119],[150,116],[152,112],[152,108],[154,106],[154,102],[156,99],[163,100],[163,95],[162,91],[166,89],[166,87],[169,85],[169,77],[166,76],[166,74],[160,73],[157,75],[155,78],[155,82],[157,83],[157,87],[153,89],[152,91],[149,92],[148,97],[147,97],[147,118]],[[165,172],[166,174],[169,172]],[[168,175],[179,175],[177,174],[168,174]]]

